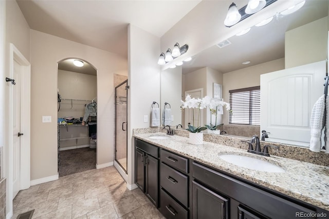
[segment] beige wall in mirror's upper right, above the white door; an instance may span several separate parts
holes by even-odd
[[[289,30],[285,34],[285,68],[327,58],[328,17]]]

